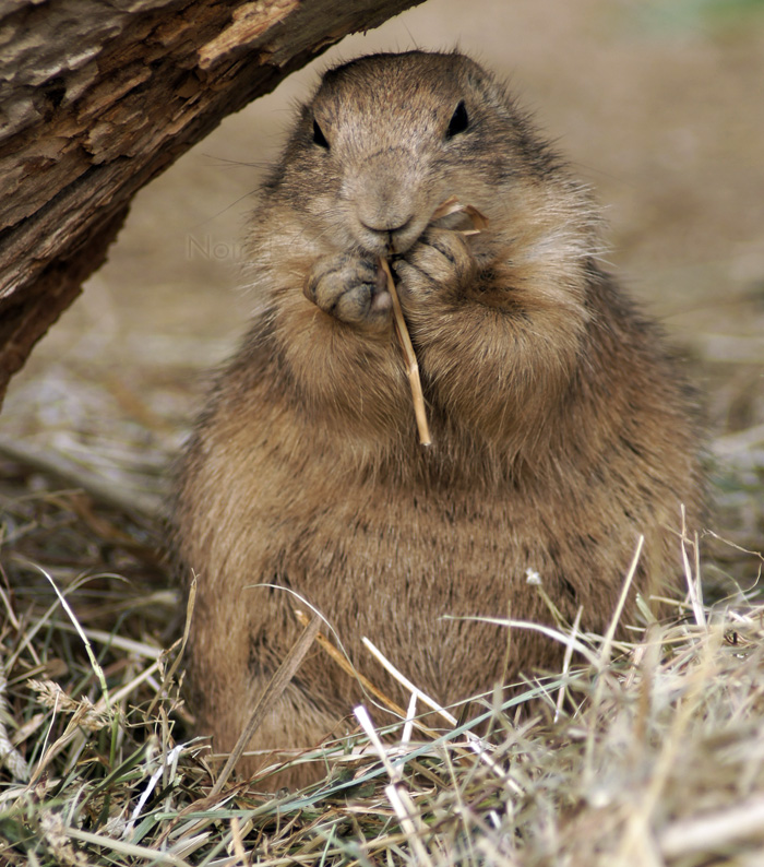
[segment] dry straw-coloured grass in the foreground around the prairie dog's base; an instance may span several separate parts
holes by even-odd
[[[357,735],[291,759],[325,763],[321,785],[217,792],[171,670],[183,618],[151,530],[5,470],[0,863],[760,863],[764,606],[704,605],[692,546],[675,622],[626,643],[561,625],[550,640],[581,652],[510,700],[381,740],[360,711]]]

